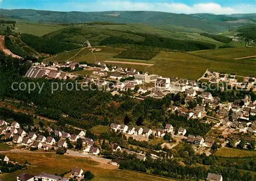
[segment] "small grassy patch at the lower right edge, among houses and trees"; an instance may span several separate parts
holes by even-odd
[[[239,150],[233,148],[222,147],[215,155],[222,157],[246,157],[246,156],[256,156],[256,151]]]

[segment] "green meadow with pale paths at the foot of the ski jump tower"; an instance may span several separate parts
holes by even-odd
[[[103,61],[103,60],[112,58],[113,56],[123,51],[123,49],[117,49],[117,48],[113,49],[110,47],[97,47],[97,48],[101,49],[101,51],[94,52],[96,61]],[[72,50],[69,52],[63,52],[63,53],[57,54],[55,56],[46,58],[45,60],[58,61],[58,62],[65,62],[67,60],[70,60],[73,62],[86,61],[88,63],[93,63],[95,60],[94,55],[90,49],[80,48],[80,49]]]

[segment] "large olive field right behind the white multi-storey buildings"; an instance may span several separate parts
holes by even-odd
[[[152,74],[193,80],[200,78],[212,63],[208,59],[176,52],[160,52],[151,61],[155,65],[148,67],[147,71]]]

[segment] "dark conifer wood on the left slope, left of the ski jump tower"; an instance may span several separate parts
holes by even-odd
[[[40,53],[57,54],[79,48],[79,46],[75,44],[60,42],[26,33],[23,33],[20,36],[20,39]]]

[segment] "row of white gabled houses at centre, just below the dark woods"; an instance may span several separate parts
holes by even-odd
[[[127,126],[125,124],[115,124],[112,123],[110,125],[111,130],[114,130],[115,132],[119,131],[122,133],[127,133],[129,135],[145,135],[145,136],[150,136],[155,132],[156,137],[163,137],[165,135],[165,132],[173,132],[173,126],[170,124],[166,124],[165,129],[157,129],[157,130],[152,130],[147,127],[140,127],[140,126]]]

